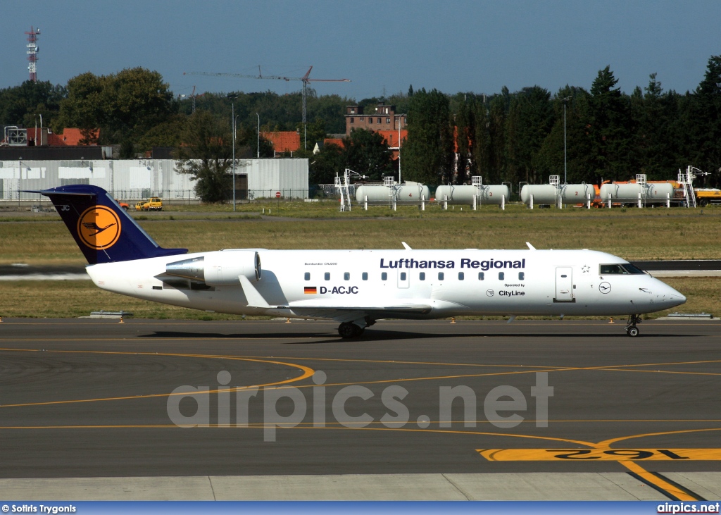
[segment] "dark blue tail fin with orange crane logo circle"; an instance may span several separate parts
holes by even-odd
[[[107,191],[97,186],[68,185],[35,193],[50,197],[91,265],[187,252],[160,247]]]

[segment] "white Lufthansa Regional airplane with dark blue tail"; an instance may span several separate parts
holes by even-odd
[[[594,250],[267,250],[160,247],[105,190],[66,185],[50,198],[107,291],[231,314],[328,319],[355,338],[384,318],[629,315],[686,297],[621,257]],[[262,261],[262,265],[261,265]]]

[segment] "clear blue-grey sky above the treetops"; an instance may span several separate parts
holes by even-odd
[[[656,73],[684,93],[721,54],[718,0],[0,0],[0,88],[28,78],[25,31],[39,27],[37,77],[53,84],[142,66],[174,94],[301,89],[357,101],[407,92],[590,89],[611,67],[631,93]]]

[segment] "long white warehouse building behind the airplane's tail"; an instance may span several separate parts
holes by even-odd
[[[308,159],[239,159],[236,199],[308,198]],[[198,200],[195,181],[178,173],[173,159],[74,159],[0,161],[0,203],[42,200],[37,193],[69,184],[92,184],[115,198],[160,196],[167,201]],[[43,198],[44,199],[44,198]]]

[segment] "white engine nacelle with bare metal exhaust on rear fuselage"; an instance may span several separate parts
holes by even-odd
[[[239,276],[252,282],[260,281],[261,272],[260,255],[255,250],[218,250],[165,266],[169,276],[202,281],[208,286],[239,284]]]

